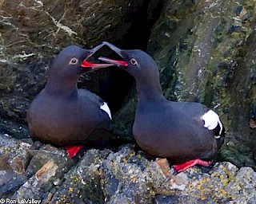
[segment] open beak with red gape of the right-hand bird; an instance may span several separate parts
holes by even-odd
[[[112,49],[114,51],[114,53],[117,53],[120,57],[122,57],[122,59],[124,58],[122,56],[122,49],[118,49],[118,47],[112,45],[110,42],[107,42],[107,41],[103,41],[102,45],[108,46],[110,49]],[[116,65],[118,67],[128,66],[128,63],[126,61],[115,61],[115,60],[112,60],[112,59],[107,58],[107,57],[98,57],[98,59],[101,60],[101,61],[105,61],[106,63],[109,63],[111,65]],[[109,65],[109,64],[107,64],[107,65]]]

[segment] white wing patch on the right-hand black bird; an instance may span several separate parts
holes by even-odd
[[[214,112],[213,110],[210,110],[208,112],[206,112],[201,119],[205,122],[204,127],[208,128],[208,130],[214,130],[214,128],[216,128],[219,124],[220,126],[220,131],[219,131],[219,135],[215,136],[215,138],[219,138],[221,133],[222,133],[222,122],[219,119],[219,116],[216,112]]]

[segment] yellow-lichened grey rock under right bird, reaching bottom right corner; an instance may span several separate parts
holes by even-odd
[[[229,203],[238,196],[254,198],[255,172],[250,167],[238,170],[231,163],[215,163],[207,171],[193,167],[178,175],[170,168],[170,175],[166,178],[154,159],[133,146],[117,152],[93,149],[66,174],[57,192],[51,191],[51,203]],[[234,190],[235,184],[244,190]]]

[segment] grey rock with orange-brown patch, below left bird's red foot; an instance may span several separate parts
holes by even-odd
[[[42,146],[26,169],[26,175],[30,179],[11,198],[45,198],[73,165],[74,161],[68,159],[62,148]]]

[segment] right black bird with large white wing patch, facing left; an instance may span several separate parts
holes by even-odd
[[[177,171],[196,164],[210,166],[225,135],[218,114],[200,103],[166,100],[158,66],[147,53],[103,44],[123,60],[99,59],[122,67],[136,80],[138,104],[133,134],[142,150],[169,159]]]

